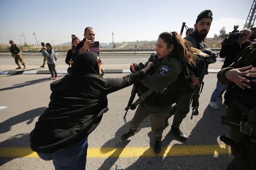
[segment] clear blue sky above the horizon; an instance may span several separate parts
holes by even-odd
[[[1,0],[0,42],[21,39],[24,32],[27,43],[54,42],[54,45],[70,42],[71,35],[80,39],[86,27],[93,27],[95,41],[114,42],[157,40],[165,31],[180,32],[182,22],[193,27],[197,15],[205,9],[213,13],[211,30],[207,37],[226,31],[234,25],[242,29],[253,0]],[[256,23],[255,23],[256,24]],[[8,39],[7,39],[8,37]],[[15,40],[19,43],[19,40]]]

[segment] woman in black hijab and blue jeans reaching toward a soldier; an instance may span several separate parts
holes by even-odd
[[[101,59],[79,53],[71,74],[51,83],[48,108],[30,133],[30,147],[40,158],[53,160],[55,169],[85,169],[88,135],[99,125],[108,106],[107,95],[132,85],[153,63],[122,78],[101,74]]]

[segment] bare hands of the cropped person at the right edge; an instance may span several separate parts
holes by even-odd
[[[242,68],[238,68],[238,69],[228,70],[225,72],[225,76],[227,79],[234,82],[241,89],[245,90],[244,87],[247,87],[247,88],[251,88],[251,87],[248,84],[244,83],[244,82],[250,82],[250,80],[247,78],[244,78],[243,76],[248,75],[248,77],[256,77],[255,76],[256,69],[252,68],[252,70],[248,70],[250,68],[252,68],[252,65],[250,65],[248,67],[242,67]],[[255,82],[255,80],[252,80],[252,81]]]

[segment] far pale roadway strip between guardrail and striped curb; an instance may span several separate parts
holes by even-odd
[[[22,55],[26,65],[42,65],[43,56],[41,55]],[[139,63],[147,62],[150,55],[100,55],[100,58],[104,64],[126,64],[126,63]],[[58,60],[56,64],[62,65],[65,63],[66,55],[57,55]],[[214,65],[222,65],[224,58],[217,58],[217,62]],[[14,59],[11,55],[1,55],[0,65],[15,65]]]

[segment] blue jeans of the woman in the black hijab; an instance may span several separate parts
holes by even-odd
[[[87,148],[86,138],[54,153],[37,154],[43,160],[53,160],[55,170],[85,170]]]

